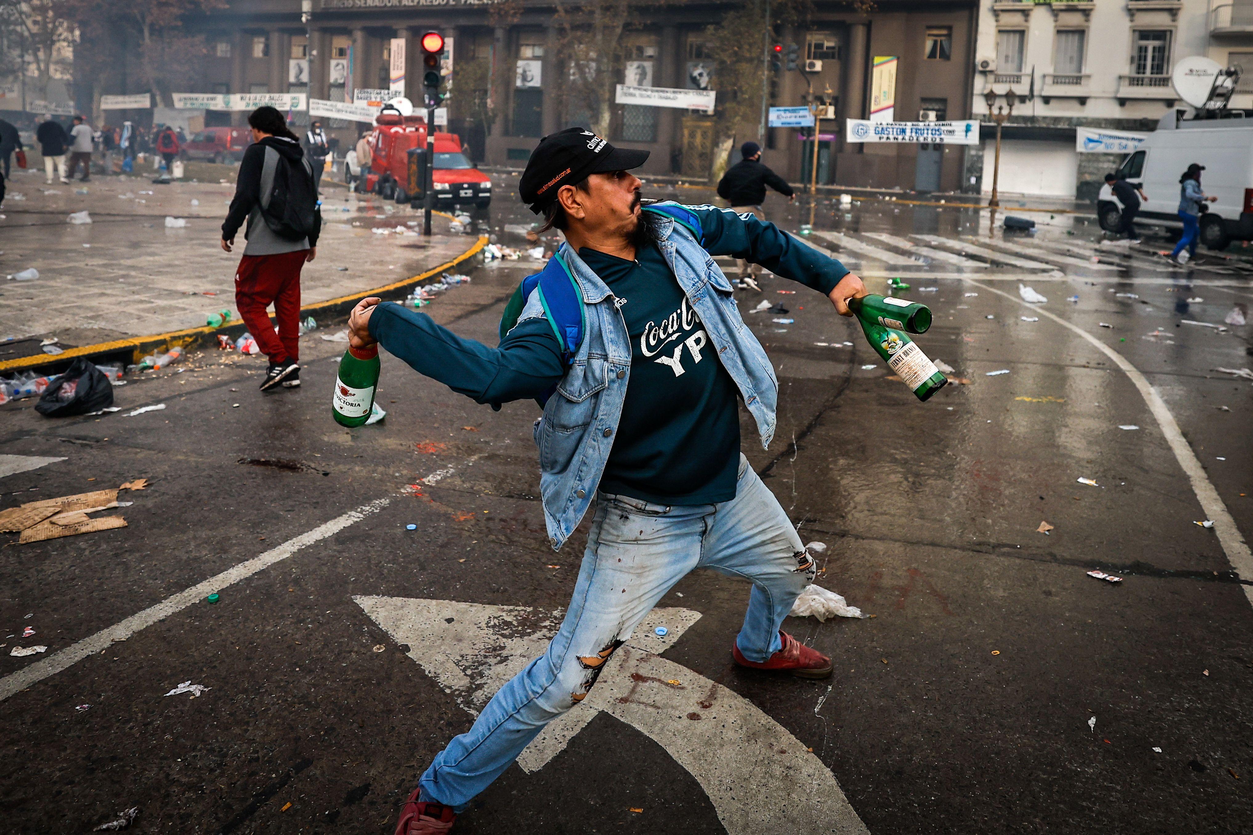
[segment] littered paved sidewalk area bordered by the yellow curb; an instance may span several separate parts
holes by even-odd
[[[0,339],[55,336],[75,347],[203,325],[223,308],[238,315],[234,269],[243,232],[233,254],[218,245],[233,182],[158,185],[150,177],[98,177],[49,187],[43,172],[14,174],[0,212]],[[81,210],[93,223],[70,224],[69,214]],[[167,217],[185,218],[187,227],[169,229]],[[323,189],[322,218],[317,258],[302,273],[302,304],[416,275],[476,240],[397,234],[396,227],[421,213],[342,188]],[[436,217],[435,232],[447,229],[449,220]],[[4,280],[28,267],[39,279]]]

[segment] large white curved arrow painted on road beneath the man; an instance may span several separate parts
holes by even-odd
[[[543,655],[561,611],[447,600],[353,597],[466,711]],[[700,784],[730,835],[868,835],[831,771],[747,699],[659,657],[700,613],[655,608],[605,665],[588,697],[545,729],[517,764],[536,771],[598,711],[638,729]],[[664,626],[668,633],[655,633]]]

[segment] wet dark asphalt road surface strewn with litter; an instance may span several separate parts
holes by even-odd
[[[808,220],[804,207],[771,210],[793,229]],[[497,207],[490,224],[520,244],[504,225],[530,219]],[[868,233],[917,244],[911,234],[986,235],[986,223],[867,202],[847,215],[824,203],[814,225],[885,248]],[[1058,215],[1020,243],[1096,238],[1094,223]],[[1247,831],[1249,580],[1232,572],[1215,532],[1194,525],[1205,516],[1193,486],[1128,374],[1017,300],[1019,282],[1031,284],[1049,297],[1045,310],[1146,376],[1248,532],[1253,389],[1213,371],[1249,366],[1248,328],[1183,324],[1220,324],[1248,302],[1243,262],[1157,272],[1160,262],[1136,252],[1130,269],[1059,262],[1065,275],[1025,278],[1004,265],[920,255],[900,268],[860,255],[872,290],[907,275],[903,295],[936,314],[918,343],[969,381],[925,404],[824,299],[779,293],[796,285],[777,278],[762,280],[763,294],[737,293],[744,310],[767,298],[796,319],[746,314],[774,359],[781,407],[769,451],[743,414],[744,452],[802,537],[828,545],[818,582],[873,617],[786,626],[833,657],[829,681],[741,671],[729,647],[747,587],[700,572],[662,602],[702,613],[664,657],[811,747],[871,832]],[[494,344],[505,298],[535,267],[477,269],[426,310]],[[138,806],[134,831],[390,832],[419,774],[472,717],[353,596],[566,603],[585,527],[560,553],[545,541],[535,406],[496,413],[385,356],[387,419],[347,431],[328,409],[342,344],[317,337],[302,341],[299,391],[262,396],[262,361],[204,352],[182,373],[119,388],[124,411],[100,419],[49,422],[29,401],[0,409],[5,453],[66,458],[0,479],[0,508],[150,479],[122,494],[134,502],[122,511],[127,528],[4,550],[9,647],[38,640],[51,655],[387,499],[222,588],[218,605],[187,607],[9,697],[0,810],[10,831],[88,831]],[[155,403],[167,408],[125,417]],[[1093,568],[1125,580],[1100,582],[1085,575]],[[20,637],[25,626],[34,638]],[[39,661],[0,657],[5,676]],[[211,690],[164,696],[188,680]],[[806,802],[806,786],[783,790]],[[533,830],[725,831],[693,776],[609,715],[541,770],[510,769],[455,831]]]

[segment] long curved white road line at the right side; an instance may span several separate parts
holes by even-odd
[[[1158,426],[1162,427],[1162,434],[1165,436],[1167,443],[1170,444],[1170,451],[1175,453],[1175,459],[1179,466],[1183,467],[1184,473],[1188,474],[1188,479],[1192,482],[1192,492],[1197,494],[1197,501],[1200,502],[1200,510],[1205,512],[1205,518],[1214,522],[1214,533],[1218,535],[1218,542],[1223,546],[1223,551],[1227,553],[1228,562],[1232,563],[1232,568],[1239,575],[1242,580],[1253,580],[1253,552],[1249,551],[1249,546],[1244,542],[1244,537],[1240,535],[1240,530],[1235,526],[1235,520],[1227,511],[1227,505],[1223,503],[1222,497],[1218,491],[1214,489],[1214,484],[1210,483],[1209,476],[1205,474],[1204,467],[1200,466],[1200,461],[1197,458],[1197,453],[1192,451],[1188,439],[1183,437],[1183,432],[1179,431],[1179,424],[1175,422],[1174,416],[1167,407],[1165,401],[1158,393],[1158,389],[1149,384],[1148,378],[1144,377],[1140,371],[1126,361],[1123,354],[1118,353],[1104,342],[1088,333],[1076,324],[1071,324],[1066,319],[1063,319],[1055,313],[1041,308],[1037,304],[1027,304],[1016,295],[999,290],[990,284],[982,284],[974,279],[966,279],[976,287],[981,287],[990,293],[996,293],[997,295],[1004,295],[1011,302],[1017,302],[1022,307],[1030,308],[1036,312],[1036,315],[1044,315],[1061,327],[1078,333],[1080,337],[1090,342],[1093,346],[1099,348],[1106,357],[1114,361],[1114,363],[1123,369],[1135,388],[1140,392],[1140,397],[1149,407],[1149,412],[1157,418]],[[1253,586],[1243,585],[1244,596],[1248,597],[1249,603],[1253,603]]]

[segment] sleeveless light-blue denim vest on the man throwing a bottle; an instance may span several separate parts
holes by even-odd
[[[648,230],[704,324],[709,346],[736,381],[744,406],[757,421],[762,446],[774,437],[778,379],[757,337],[744,325],[733,288],[692,233],[669,218],[645,215]],[[588,511],[609,461],[630,382],[630,337],[621,300],[569,245],[561,257],[583,294],[583,342],[556,393],[535,422],[540,449],[540,494],[544,522],[554,550],[569,538]],[[519,322],[544,315],[534,290]]]

